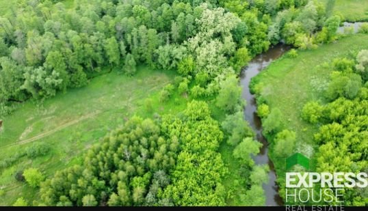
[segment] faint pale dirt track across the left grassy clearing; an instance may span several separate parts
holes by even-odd
[[[83,115],[83,116],[79,117],[78,119],[75,119],[71,122],[66,122],[65,124],[62,124],[62,125],[58,126],[57,128],[55,128],[53,130],[43,132],[40,135],[37,135],[36,137],[25,139],[23,141],[18,141],[16,143],[11,143],[9,145],[5,145],[4,147],[0,147],[0,149],[4,149],[4,148],[11,147],[11,146],[14,146],[14,145],[23,145],[25,143],[30,143],[30,142],[33,142],[33,141],[37,141],[38,139],[42,139],[43,137],[47,137],[47,136],[53,134],[54,132],[62,130],[64,128],[68,127],[68,126],[72,126],[73,124],[77,124],[78,122],[81,122],[84,119],[89,119],[91,117],[94,117],[95,115],[98,115],[99,113],[101,113],[101,111],[94,111],[92,113],[88,113],[87,115]]]

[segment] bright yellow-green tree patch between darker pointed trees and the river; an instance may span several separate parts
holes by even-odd
[[[221,182],[227,169],[217,152],[223,135],[209,114],[205,102],[192,101],[184,119],[163,119],[163,131],[181,143],[172,184],[163,192],[175,206],[225,205]]]

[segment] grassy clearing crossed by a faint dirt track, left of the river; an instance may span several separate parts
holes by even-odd
[[[159,91],[173,78],[174,73],[144,66],[133,77],[111,72],[92,79],[86,87],[57,94],[40,105],[27,102],[5,117],[0,135],[0,160],[36,141],[49,143],[52,150],[47,156],[21,158],[14,165],[0,169],[0,188],[5,191],[0,206],[11,205],[20,196],[29,202],[38,197],[36,189],[15,180],[16,171],[37,167],[51,175],[79,163],[82,152],[134,114],[153,117],[154,111],[164,114],[185,109],[187,99],[179,94],[174,94],[165,104],[159,102]],[[146,98],[151,99],[149,106]]]

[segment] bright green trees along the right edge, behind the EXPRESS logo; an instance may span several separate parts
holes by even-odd
[[[334,59],[330,68],[333,71],[325,94],[329,102],[308,102],[302,111],[303,119],[319,126],[314,135],[319,145],[316,170],[367,172],[368,51],[360,51],[355,58]],[[365,190],[344,191],[339,201],[346,206],[367,205]]]

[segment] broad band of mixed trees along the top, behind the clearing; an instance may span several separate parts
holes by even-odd
[[[192,92],[210,96],[270,44],[288,38],[309,46],[326,20],[317,1],[76,0],[73,9],[17,3],[18,10],[0,18],[2,115],[14,102],[86,85],[108,67],[134,74],[137,64],[192,76],[198,84]],[[333,37],[333,20],[319,42]]]

